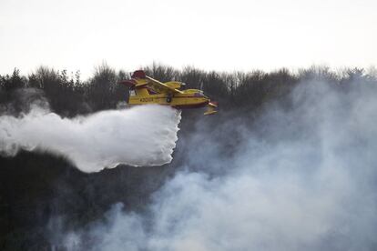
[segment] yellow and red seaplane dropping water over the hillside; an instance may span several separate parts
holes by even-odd
[[[217,113],[215,108],[218,105],[210,102],[209,97],[204,95],[203,91],[198,89],[179,90],[184,85],[183,83],[177,81],[162,83],[149,77],[142,70],[135,71],[131,75],[131,79],[122,80],[119,84],[129,87],[129,105],[170,105],[178,109],[207,106],[208,109],[204,115]]]

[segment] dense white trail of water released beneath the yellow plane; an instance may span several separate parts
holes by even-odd
[[[159,105],[73,119],[34,107],[21,117],[0,116],[0,153],[47,151],[66,156],[84,172],[118,164],[159,166],[172,159],[179,120],[180,112]]]

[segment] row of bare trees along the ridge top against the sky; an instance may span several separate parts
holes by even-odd
[[[329,83],[341,90],[349,89],[355,82],[377,83],[375,71],[366,73],[362,68],[334,72],[329,67],[312,66],[295,73],[285,68],[270,73],[260,70],[219,73],[195,67],[177,70],[153,64],[143,69],[147,75],[162,82],[177,80],[186,83],[187,88],[203,90],[224,110],[258,108],[285,97],[299,83],[312,80]],[[127,87],[117,82],[128,77],[127,72],[117,72],[106,64],[97,66],[94,75],[87,80],[82,80],[79,72],[68,74],[66,70],[57,71],[46,66],[27,76],[15,69],[11,75],[0,75],[0,105],[12,103],[15,111],[20,110],[22,104],[16,102],[18,91],[36,88],[43,91],[51,109],[60,115],[73,116],[115,108],[119,102],[127,100]]]

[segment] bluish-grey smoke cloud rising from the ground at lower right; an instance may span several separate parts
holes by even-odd
[[[289,110],[270,105],[252,129],[229,117],[209,135],[201,120],[182,146],[185,166],[147,213],[117,204],[103,221],[54,243],[69,250],[375,250],[376,93],[375,86],[342,92],[312,81],[292,93]],[[224,154],[236,137],[233,153]]]

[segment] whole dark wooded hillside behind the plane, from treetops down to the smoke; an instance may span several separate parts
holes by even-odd
[[[174,159],[164,166],[117,166],[86,174],[64,156],[28,151],[15,157],[0,155],[1,250],[51,250],[49,235],[56,227],[52,218],[62,219],[62,229],[75,229],[101,218],[119,202],[126,211],[143,212],[151,196],[184,168],[185,142],[200,120],[208,125],[203,130],[209,134],[209,126],[239,121],[252,128],[266,107],[276,105],[290,110],[290,97],[297,86],[321,82],[334,92],[346,94],[359,85],[377,85],[375,70],[358,67],[334,71],[327,66],[311,66],[295,71],[282,68],[229,73],[153,64],[143,70],[162,82],[176,80],[186,83],[187,88],[203,90],[219,103],[219,113],[203,117],[202,111],[183,111]],[[40,66],[30,75],[15,68],[13,73],[0,75],[0,115],[22,116],[31,109],[30,104],[48,105],[51,112],[62,117],[117,109],[123,107],[128,93],[127,87],[117,82],[128,77],[127,71],[116,71],[107,64],[98,65],[88,79],[82,79],[79,71],[69,73],[48,66]],[[231,156],[241,136],[235,131],[229,141],[218,133],[220,151]],[[215,171],[203,166],[189,168],[216,176]]]

